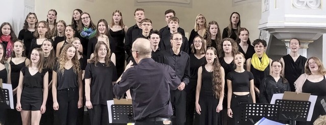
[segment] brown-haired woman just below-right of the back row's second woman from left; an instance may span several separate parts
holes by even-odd
[[[65,40],[65,28],[67,24],[63,20],[59,20],[57,26],[55,27],[55,32],[53,33],[53,47],[57,48],[59,42]]]

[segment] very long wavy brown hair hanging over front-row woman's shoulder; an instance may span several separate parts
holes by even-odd
[[[218,55],[218,51],[216,51],[216,49],[214,47],[208,47],[207,50],[213,50],[214,54],[215,55]],[[206,50],[206,51],[207,51]],[[206,62],[207,63],[207,62]],[[221,79],[224,79],[222,78],[221,76],[221,64],[220,64],[220,61],[219,61],[219,58],[216,57],[214,59],[214,62],[213,62],[213,92],[214,92],[214,96],[216,99],[219,99],[219,97],[224,94],[222,93],[222,80]]]

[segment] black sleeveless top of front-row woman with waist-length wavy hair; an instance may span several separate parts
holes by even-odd
[[[208,72],[205,65],[203,65],[202,68],[202,87],[200,90],[200,96],[213,97],[213,72]]]

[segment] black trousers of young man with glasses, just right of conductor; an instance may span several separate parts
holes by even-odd
[[[171,104],[174,107],[175,119],[172,119],[173,125],[185,124],[185,90],[171,90]]]

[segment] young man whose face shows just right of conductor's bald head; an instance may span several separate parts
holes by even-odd
[[[149,33],[148,40],[151,42],[151,48],[152,48],[152,58],[156,62],[162,62],[163,61],[163,55],[161,49],[158,47],[159,41],[161,40],[161,35],[158,32],[158,30],[152,30]]]

